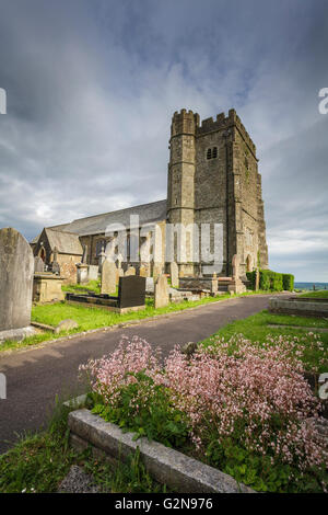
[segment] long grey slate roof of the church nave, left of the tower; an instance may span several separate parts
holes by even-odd
[[[128,228],[130,226],[131,215],[139,216],[140,225],[166,220],[166,199],[105,213],[103,215],[80,218],[71,224],[54,226],[49,229],[54,231],[69,231],[79,236],[102,234],[105,233],[107,226],[110,224],[122,224]]]

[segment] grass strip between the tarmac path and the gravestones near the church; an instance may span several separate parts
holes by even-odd
[[[97,282],[91,282],[97,283]],[[77,285],[73,285],[74,287]],[[80,285],[79,285],[80,286]],[[96,287],[96,285],[94,285]],[[71,286],[69,286],[71,287]],[[39,305],[32,308],[32,321],[44,323],[47,325],[56,327],[58,323],[66,319],[74,320],[79,327],[71,331],[62,331],[59,334],[51,332],[43,332],[24,339],[22,342],[5,341],[0,345],[0,353],[4,351],[14,351],[23,347],[38,345],[43,342],[55,341],[58,337],[70,336],[81,332],[112,327],[119,323],[125,323],[133,320],[143,320],[147,318],[155,317],[157,314],[171,313],[174,311],[181,311],[188,308],[195,308],[209,302],[218,302],[233,297],[243,297],[246,295],[268,294],[268,291],[247,291],[239,295],[221,295],[219,297],[207,297],[201,300],[181,302],[172,302],[164,308],[154,308],[153,299],[145,299],[145,309],[141,311],[131,311],[124,314],[114,313],[102,308],[92,308],[84,306],[73,306],[68,302],[56,302],[51,305]]]

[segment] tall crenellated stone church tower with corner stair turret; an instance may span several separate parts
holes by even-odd
[[[174,113],[171,126],[167,181],[167,221],[185,226],[223,226],[223,268],[231,275],[234,254],[241,259],[241,274],[257,265],[268,267],[266,224],[256,147],[234,110],[229,116],[201,122],[192,111]],[[188,233],[187,247],[199,234]],[[190,247],[191,245],[191,247]],[[199,247],[200,248],[200,247]],[[188,254],[188,253],[187,253]],[[192,254],[192,251],[191,251]],[[184,275],[207,273],[207,265],[180,261]]]

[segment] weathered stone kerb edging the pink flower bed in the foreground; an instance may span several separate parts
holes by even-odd
[[[140,458],[149,473],[177,492],[255,493],[231,476],[157,442],[149,442],[147,438],[133,442],[132,433],[124,433],[117,425],[105,422],[89,410],[71,411],[68,425],[73,436],[72,445],[79,446],[80,439],[114,459],[126,461],[139,448]]]

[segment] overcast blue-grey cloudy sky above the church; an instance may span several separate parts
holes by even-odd
[[[270,268],[328,282],[327,0],[0,0],[0,227],[166,197],[172,114],[235,107]]]

